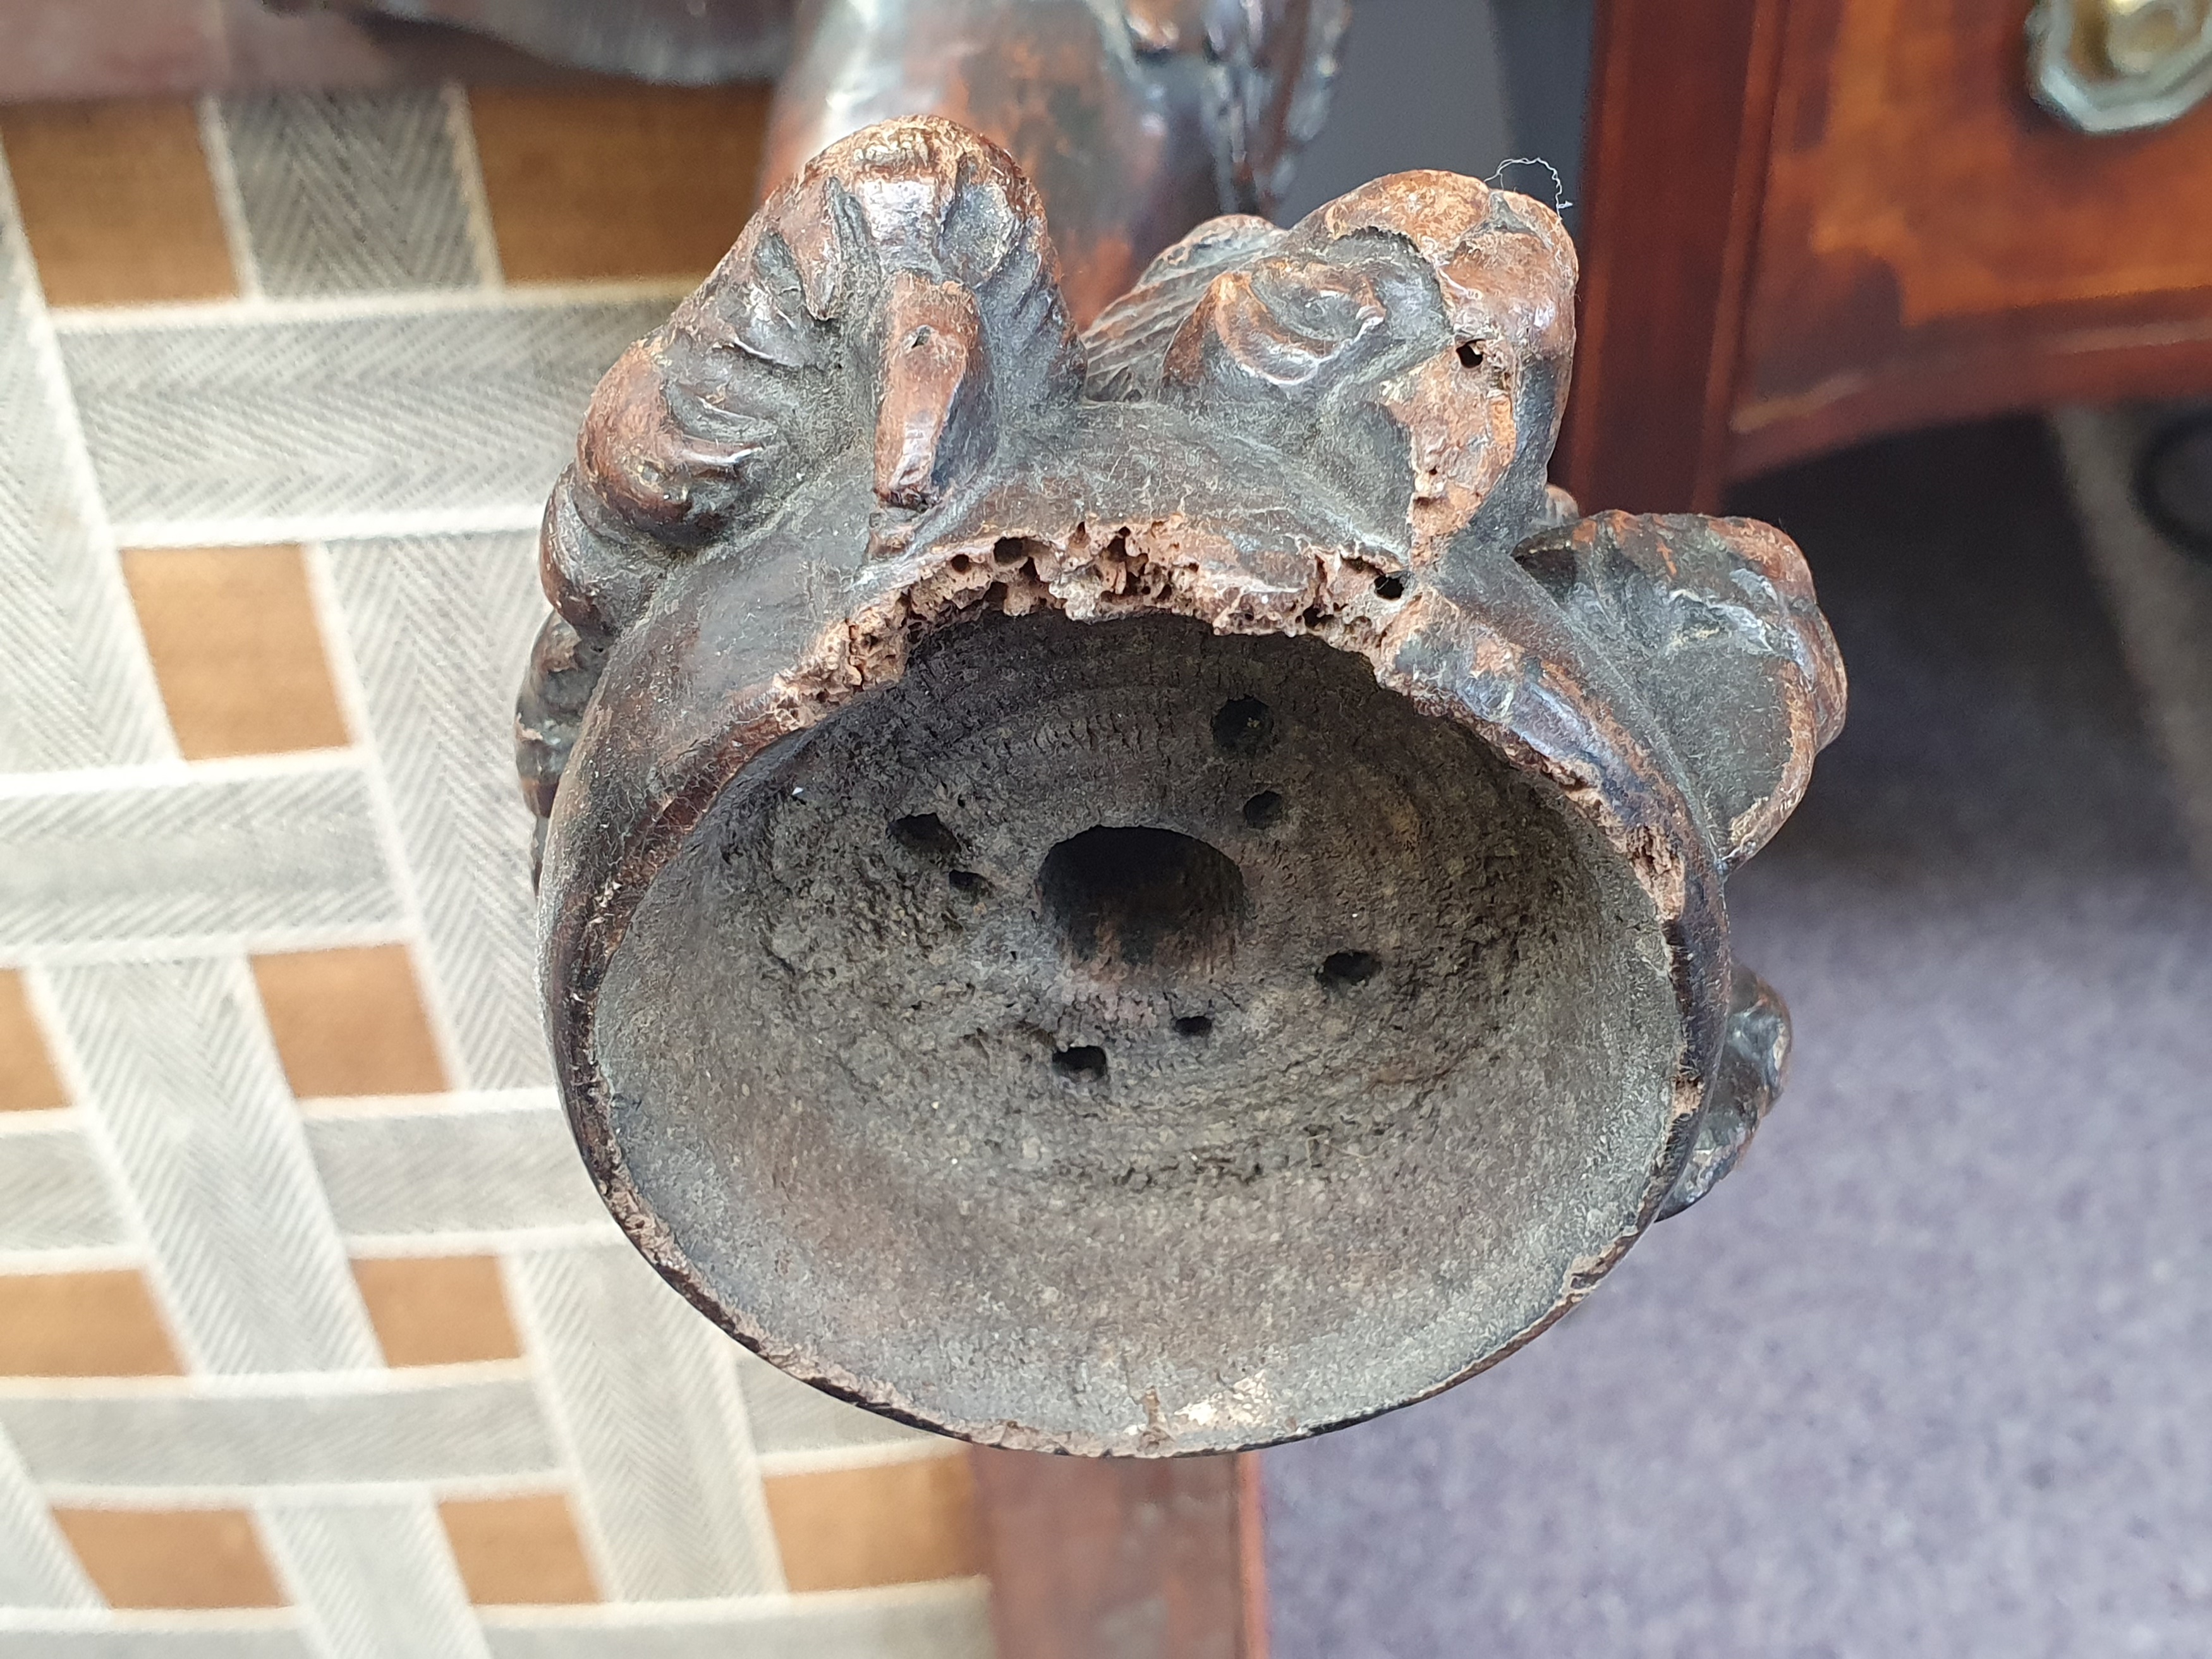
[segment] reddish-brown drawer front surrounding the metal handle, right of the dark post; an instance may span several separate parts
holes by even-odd
[[[1732,473],[1929,420],[2212,385],[2212,106],[2088,137],[2026,0],[1790,0]]]

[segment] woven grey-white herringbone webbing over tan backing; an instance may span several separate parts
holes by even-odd
[[[989,1650],[967,1462],[599,1210],[509,699],[759,93],[0,111],[0,1655]]]

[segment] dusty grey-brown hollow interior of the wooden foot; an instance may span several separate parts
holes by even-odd
[[[1511,1340],[1630,1225],[1674,1033],[1626,865],[1363,659],[1057,615],[748,768],[597,1022],[639,1190],[783,1358],[1115,1451]]]

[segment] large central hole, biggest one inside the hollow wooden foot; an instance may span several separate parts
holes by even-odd
[[[1088,967],[1190,969],[1228,956],[1245,911],[1243,872],[1175,830],[1097,825],[1037,869],[1044,920]]]

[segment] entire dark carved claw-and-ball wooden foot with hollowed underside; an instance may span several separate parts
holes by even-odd
[[[776,192],[593,400],[520,706],[599,1190],[730,1334],[978,1442],[1314,1433],[1717,1181],[1723,876],[1843,719],[1796,549],[1579,518],[1553,212],[1214,219],[1077,334],[942,119]]]

